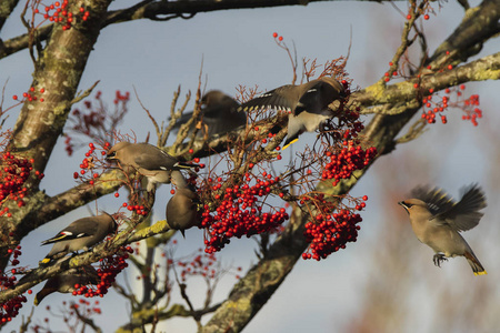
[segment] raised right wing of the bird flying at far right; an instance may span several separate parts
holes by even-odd
[[[462,199],[451,209],[439,214],[457,231],[467,231],[479,224],[483,213],[479,210],[487,206],[486,196],[478,184],[461,190]]]

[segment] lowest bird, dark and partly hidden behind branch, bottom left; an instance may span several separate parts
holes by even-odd
[[[54,292],[60,293],[72,293],[77,290],[76,284],[80,286],[87,284],[99,284],[100,278],[98,272],[91,265],[81,266],[79,269],[73,269],[64,272],[60,275],[56,275],[47,280],[42,290],[34,296],[34,305],[40,304],[40,302]]]

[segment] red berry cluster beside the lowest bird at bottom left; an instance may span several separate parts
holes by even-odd
[[[129,264],[126,260],[129,258],[129,253],[133,253],[131,246],[119,250],[116,254],[109,255],[100,260],[101,266],[98,269],[98,274],[101,281],[96,286],[88,285],[74,285],[76,291],[73,295],[84,295],[86,297],[104,296],[108,290],[112,286],[117,275],[123,271]]]

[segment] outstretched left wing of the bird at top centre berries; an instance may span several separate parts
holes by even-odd
[[[260,109],[273,109],[278,111],[293,112],[297,103],[299,102],[298,85],[287,84],[274,90],[264,92],[254,99],[241,104],[238,108],[239,111],[252,111]]]

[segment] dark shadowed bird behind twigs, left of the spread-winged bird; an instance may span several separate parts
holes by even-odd
[[[219,90],[207,92],[201,98],[201,122],[204,125],[204,131],[199,131],[198,135],[207,133],[208,137],[213,134],[222,134],[232,131],[239,127],[247,124],[247,114],[239,112],[238,103],[230,95]],[[188,122],[192,118],[192,111],[182,114],[177,121],[174,129],[179,129],[181,124]],[[193,131],[197,123],[192,123],[190,131]]]

